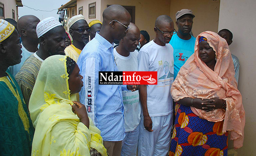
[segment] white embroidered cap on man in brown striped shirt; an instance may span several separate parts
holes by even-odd
[[[38,38],[40,38],[45,33],[49,32],[49,30],[62,26],[62,24],[55,17],[48,17],[44,20],[41,20],[36,26],[36,34]]]

